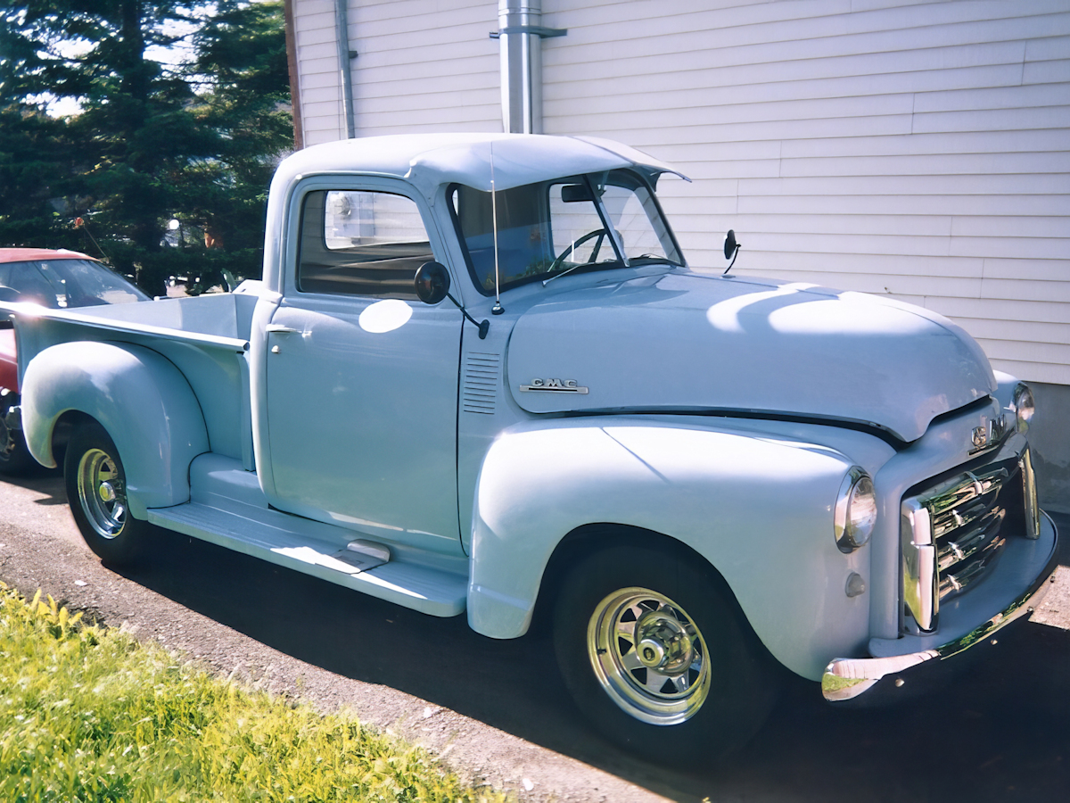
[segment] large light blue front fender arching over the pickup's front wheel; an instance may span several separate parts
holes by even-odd
[[[852,573],[868,581],[869,550],[844,555],[832,531],[852,466],[841,453],[720,425],[540,424],[506,430],[480,469],[468,603],[475,631],[522,635],[559,543],[584,525],[615,524],[703,556],[769,651],[804,677],[865,646],[868,601],[845,586]]]

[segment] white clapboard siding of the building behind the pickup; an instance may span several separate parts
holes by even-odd
[[[498,0],[349,0],[360,135],[500,131]],[[673,163],[698,269],[887,294],[1070,383],[1070,0],[542,0],[544,126]],[[343,136],[295,0],[306,139]]]

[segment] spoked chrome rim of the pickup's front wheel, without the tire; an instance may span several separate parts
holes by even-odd
[[[678,725],[709,694],[706,642],[664,594],[626,588],[607,595],[587,625],[587,653],[606,693],[651,725]]]

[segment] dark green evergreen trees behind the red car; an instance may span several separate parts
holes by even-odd
[[[268,184],[292,137],[282,3],[208,7],[207,20],[200,0],[0,9],[0,245],[76,247],[151,294],[167,271],[218,282],[208,242],[235,257],[230,273],[259,275]],[[151,57],[181,39],[187,63]],[[82,110],[56,120],[48,97]],[[167,237],[172,218],[186,238]]]

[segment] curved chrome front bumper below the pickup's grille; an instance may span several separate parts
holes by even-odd
[[[1046,514],[1043,515],[1046,517]],[[1049,521],[1051,521],[1050,518]],[[1052,522],[1052,527],[1054,527],[1054,522]],[[1051,557],[1044,569],[1028,588],[1004,610],[981,622],[969,633],[941,647],[920,652],[880,658],[834,658],[825,667],[825,673],[821,679],[822,696],[830,702],[854,699],[871,690],[883,678],[913,669],[933,660],[944,661],[957,655],[974,645],[987,640],[1014,620],[1031,613],[1041,604],[1044,594],[1051,588],[1052,574],[1058,565],[1057,537],[1052,547]]]

